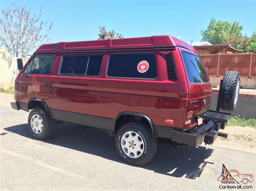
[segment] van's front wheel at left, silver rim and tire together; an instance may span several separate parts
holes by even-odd
[[[28,126],[33,137],[44,139],[51,134],[53,121],[43,109],[36,108],[29,113]]]

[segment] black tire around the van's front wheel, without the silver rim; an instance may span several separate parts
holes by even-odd
[[[35,114],[39,115],[43,119],[43,125],[44,125],[43,130],[39,134],[36,134],[35,132],[33,132],[32,128],[31,128],[31,124],[30,124],[31,118]],[[30,134],[33,137],[35,137],[37,139],[45,139],[45,138],[49,137],[50,134],[52,133],[53,125],[54,125],[53,120],[43,109],[35,108],[32,111],[30,111],[29,118],[28,118],[28,128],[29,128]]]

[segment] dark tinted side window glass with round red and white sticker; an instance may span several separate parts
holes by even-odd
[[[154,79],[157,77],[156,55],[110,55],[107,76]]]

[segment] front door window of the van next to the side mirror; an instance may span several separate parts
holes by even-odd
[[[35,56],[30,62],[31,74],[51,74],[55,56]],[[26,71],[26,70],[25,70]]]

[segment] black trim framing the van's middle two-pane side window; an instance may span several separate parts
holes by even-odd
[[[102,65],[103,65],[103,60],[104,60],[104,56],[105,54],[63,54],[62,56],[62,60],[60,60],[60,65],[59,65],[59,70],[58,70],[58,75],[59,76],[79,76],[79,77],[100,77],[100,73],[102,72]],[[89,61],[90,61],[90,56],[102,56],[102,63],[100,64],[100,70],[99,70],[99,75],[98,76],[92,76],[92,75],[85,75],[85,74],[65,74],[65,73],[60,73],[60,70],[62,69],[62,63],[63,63],[63,57],[64,56],[89,56],[88,61],[87,61],[87,66],[86,66],[86,70],[85,70],[85,74],[87,72],[87,68],[89,65]]]

